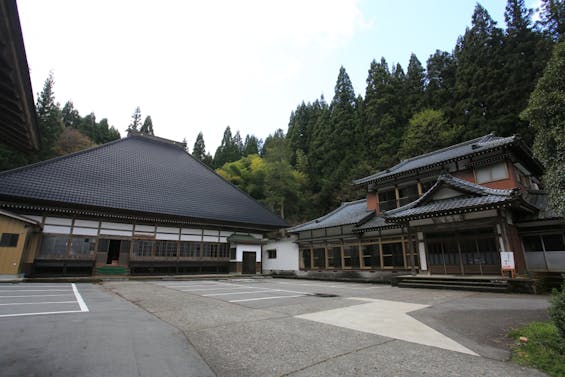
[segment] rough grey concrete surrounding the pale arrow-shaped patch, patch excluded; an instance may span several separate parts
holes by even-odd
[[[253,282],[257,284],[275,286],[277,282],[270,279]],[[506,361],[506,345],[497,348],[489,334],[501,323],[521,323],[520,312],[524,310],[531,314],[528,319],[543,319],[547,306],[545,297],[503,295],[508,307],[504,310],[500,307],[500,297],[492,294],[391,287],[371,289],[335,282],[331,283],[333,287],[324,289],[325,283],[316,284],[319,286],[311,287],[312,292],[338,293],[341,297],[305,296],[242,305],[150,282],[111,282],[104,286],[183,331],[210,368],[222,377],[544,375]],[[309,287],[301,285],[300,289]],[[429,305],[410,315],[481,357],[295,317],[358,304],[346,297]],[[464,315],[459,321],[450,317],[453,313],[460,315],[457,310],[465,308],[489,312],[490,318],[473,314],[474,320],[470,321],[475,327],[473,336],[468,336],[470,330]],[[444,321],[445,318],[450,320]],[[477,328],[481,323],[490,325],[483,331]]]

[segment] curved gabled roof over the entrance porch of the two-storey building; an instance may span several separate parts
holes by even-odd
[[[435,194],[444,188],[457,193],[446,198],[434,199]],[[510,204],[518,198],[519,191],[497,190],[453,177],[441,175],[437,182],[420,198],[400,208],[384,214],[387,222],[441,216],[450,213],[463,213],[498,208]]]

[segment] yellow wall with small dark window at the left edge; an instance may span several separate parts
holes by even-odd
[[[24,263],[33,262],[39,233],[34,234],[30,224],[0,216],[1,233],[17,233],[20,236],[16,247],[0,247],[0,275],[20,274]]]

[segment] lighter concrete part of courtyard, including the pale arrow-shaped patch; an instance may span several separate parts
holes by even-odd
[[[290,279],[112,282],[218,376],[535,376],[507,331],[548,298]]]

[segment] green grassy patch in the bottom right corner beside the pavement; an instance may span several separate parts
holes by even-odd
[[[512,330],[509,334],[517,340],[512,360],[520,365],[540,369],[550,376],[565,376],[565,339],[559,336],[551,322],[532,322]],[[527,342],[520,342],[526,337]]]

